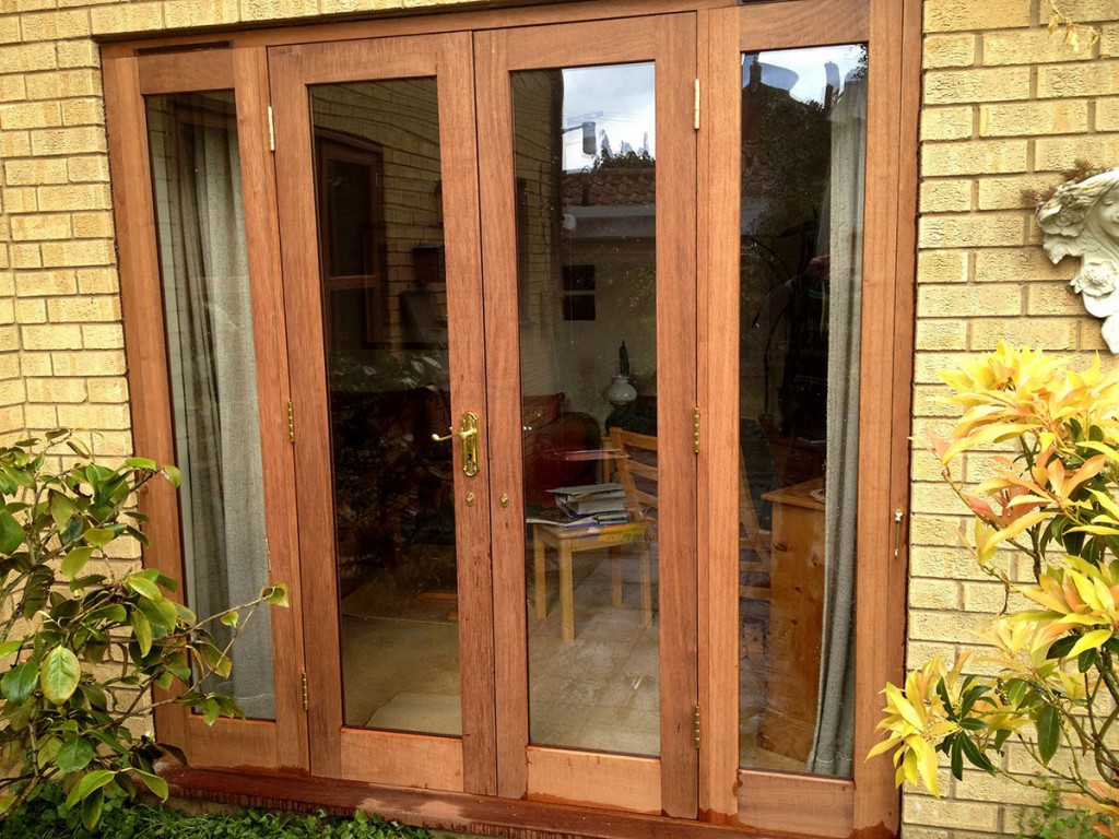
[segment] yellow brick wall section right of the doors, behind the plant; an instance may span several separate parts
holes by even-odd
[[[914,436],[948,422],[935,371],[999,339],[1087,364],[1110,353],[1100,321],[1068,287],[1070,261],[1040,247],[1025,188],[1044,188],[1078,158],[1119,164],[1119,4],[1061,0],[1103,37],[1073,51],[1046,31],[1045,0],[924,0]],[[920,446],[920,442],[916,446]],[[977,465],[968,468],[978,472]],[[913,455],[908,656],[955,659],[1002,605],[998,586],[956,547],[961,505],[939,463]],[[967,477],[975,477],[968,474]],[[1024,754],[1006,767],[1029,773]],[[976,772],[942,772],[943,800],[908,791],[906,839],[1014,836],[1028,790]]]

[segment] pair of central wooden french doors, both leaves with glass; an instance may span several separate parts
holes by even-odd
[[[695,40],[678,15],[270,49],[312,774],[696,817]],[[592,171],[645,197],[589,199]],[[529,450],[582,423],[581,480],[613,477],[627,339],[659,511],[556,581]],[[651,571],[595,611],[611,562]]]

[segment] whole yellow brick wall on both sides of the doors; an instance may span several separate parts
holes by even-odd
[[[266,22],[455,0],[0,0],[0,439],[55,425],[95,452],[131,446],[98,54],[92,36]],[[474,2],[476,0],[459,0]],[[477,0],[480,1],[480,0]],[[914,431],[944,422],[935,370],[999,338],[1088,355],[1099,323],[1071,264],[1037,246],[1023,187],[1078,157],[1119,162],[1119,11],[1080,54],[1050,39],[1043,0],[924,0]],[[960,517],[913,456],[911,661],[951,657],[997,596],[957,549]],[[1015,756],[1008,764],[1025,767]],[[1013,835],[1018,788],[971,774],[934,801],[908,793],[908,839]]]

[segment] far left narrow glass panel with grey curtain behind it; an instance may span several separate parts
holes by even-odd
[[[185,596],[203,616],[254,598],[269,573],[236,112],[232,92],[150,96],[147,111]],[[275,716],[267,610],[241,628],[231,679],[210,687],[250,717]]]

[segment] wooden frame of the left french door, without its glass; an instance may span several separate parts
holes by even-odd
[[[482,346],[481,260],[478,242],[478,178],[470,36],[466,32],[380,38],[340,44],[276,47],[270,51],[280,218],[286,234],[284,266],[294,400],[297,474],[300,496],[300,556],[304,579],[308,641],[318,653],[308,661],[310,765],[317,775],[375,783],[431,786],[492,794],[493,697],[470,676],[491,672],[493,639],[489,566],[489,491],[482,470],[463,475],[454,449],[454,516],[458,548],[459,632],[462,672],[462,737],[347,728],[342,720],[339,661],[335,522],[329,406],[319,282],[320,260],[308,86],[377,78],[435,77],[448,264],[451,411],[474,412],[485,427],[486,366]],[[316,243],[310,247],[308,243]],[[308,317],[308,313],[313,313]],[[468,487],[469,483],[469,487]],[[471,491],[477,499],[463,501]]]

